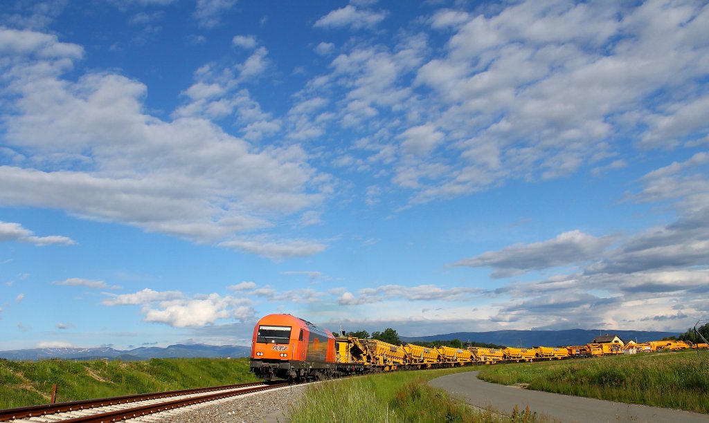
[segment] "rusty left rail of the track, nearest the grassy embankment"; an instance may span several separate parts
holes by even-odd
[[[95,400],[80,400],[70,402],[59,402],[57,404],[31,405],[29,407],[9,408],[0,410],[0,422],[13,419],[23,419],[25,417],[40,417],[44,415],[54,415],[60,412],[74,412],[79,410],[89,410],[96,407],[107,407],[110,405],[127,404],[146,400],[158,400],[160,398],[176,397],[179,395],[191,395],[196,393],[213,392],[215,390],[247,388],[250,386],[262,385],[262,382],[240,383],[238,385],[210,386],[208,388],[192,388],[181,390],[167,390],[164,392],[123,395],[120,397],[99,398]]]

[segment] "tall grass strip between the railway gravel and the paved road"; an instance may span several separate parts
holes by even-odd
[[[474,410],[444,390],[432,388],[432,378],[459,371],[441,369],[381,373],[318,383],[306,390],[289,410],[291,422],[538,422],[530,410]]]

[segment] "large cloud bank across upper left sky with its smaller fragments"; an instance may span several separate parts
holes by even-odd
[[[142,105],[147,87],[125,76],[84,74],[77,81],[63,80],[62,73],[81,59],[83,50],[53,35],[3,28],[0,51],[9,57],[0,66],[16,107],[4,121],[4,148],[33,152],[17,166],[0,166],[3,204],[64,209],[214,243],[272,227],[280,217],[323,198],[323,184],[316,182],[318,173],[300,146],[253,146],[226,134],[201,112],[179,113],[169,122],[147,115]],[[249,138],[272,133],[278,123],[258,115],[247,94],[232,103],[220,101],[238,83],[262,73],[266,54],[258,48],[235,66],[231,86],[205,76],[186,96],[197,108],[211,110],[206,115],[219,115],[220,108],[236,110],[248,122]],[[202,78],[209,70],[198,73]],[[46,134],[52,134],[51,143]],[[9,229],[17,230],[4,226]],[[73,242],[23,236],[38,245]],[[273,249],[263,247],[242,250]]]

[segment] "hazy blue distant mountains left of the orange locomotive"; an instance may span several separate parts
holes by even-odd
[[[248,357],[250,347],[240,345],[170,345],[169,347],[140,347],[121,351],[110,347],[99,348],[35,348],[0,351],[0,358],[9,360],[42,360],[42,359],[121,359],[123,361],[167,359],[167,358],[218,358],[218,357]]]

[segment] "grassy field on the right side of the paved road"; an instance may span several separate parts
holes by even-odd
[[[484,381],[709,413],[709,354],[667,352],[486,367]]]

